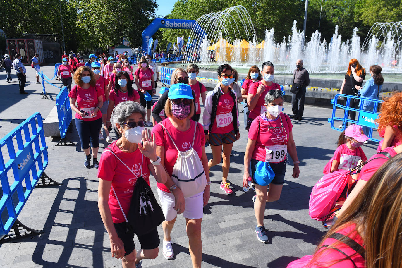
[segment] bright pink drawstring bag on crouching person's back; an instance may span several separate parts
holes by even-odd
[[[310,194],[308,214],[312,219],[324,221],[349,181],[349,170],[325,174],[314,185]]]

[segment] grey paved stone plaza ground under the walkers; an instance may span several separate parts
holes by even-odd
[[[53,76],[54,67],[41,67]],[[29,94],[18,93],[18,80],[12,70],[13,82],[7,83],[5,72],[0,73],[0,139],[22,123],[30,115],[40,112],[46,118],[55,105],[59,92],[49,84],[46,91],[51,100],[42,99],[42,85],[36,84],[35,73],[27,67]],[[60,85],[57,80],[52,81]],[[288,94],[288,92],[286,92]],[[284,113],[291,115],[289,103]],[[244,151],[247,132],[240,127],[240,140],[234,143],[228,180],[234,193],[231,196],[219,189],[222,165],[211,169],[211,199],[204,208],[202,223],[203,267],[286,267],[287,264],[306,254],[312,254],[316,243],[326,229],[321,222],[308,215],[308,202],[312,186],[322,175],[322,169],[336,149],[339,132],[327,123],[332,109],[306,106],[303,121],[292,121],[293,137],[300,160],[300,177],[291,177],[293,165],[287,166],[281,198],[267,203],[265,227],[269,229],[269,244],[256,239],[254,227],[254,191],[243,192]],[[74,117],[74,116],[73,116]],[[72,122],[74,125],[74,121]],[[240,113],[243,126],[243,113]],[[68,137],[78,142],[75,131]],[[114,132],[112,137],[115,139]],[[0,267],[120,267],[120,260],[111,257],[109,236],[98,212],[97,170],[84,168],[84,154],[80,145],[57,146],[56,140],[46,138],[49,165],[45,173],[63,182],[62,186],[33,190],[18,219],[34,229],[44,229],[39,236],[0,244]],[[107,146],[100,141],[100,152]],[[377,145],[369,143],[362,147],[367,157],[375,153]],[[206,149],[211,158],[211,149]],[[98,157],[99,160],[100,156]],[[156,182],[151,180],[156,193]],[[162,227],[158,228],[162,240]],[[139,243],[135,241],[137,248]],[[143,267],[191,267],[185,219],[178,216],[172,231],[175,253],[173,260],[160,254],[155,260],[143,260]]]

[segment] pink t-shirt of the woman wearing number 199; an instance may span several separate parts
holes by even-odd
[[[290,118],[284,113],[280,113],[279,117],[273,120],[267,119],[265,114],[258,116],[258,119],[252,121],[250,130],[248,131],[248,138],[256,140],[255,148],[252,152],[252,159],[266,161],[266,147],[287,145],[289,133],[292,131],[293,125]],[[281,161],[273,163],[279,162]]]

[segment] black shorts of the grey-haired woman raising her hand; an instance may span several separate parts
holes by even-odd
[[[127,233],[126,223],[113,223],[116,229],[117,236],[123,241],[124,244],[124,256],[130,254],[134,251],[134,234]],[[150,231],[145,235],[137,235],[138,241],[141,244],[141,248],[143,250],[153,250],[154,248],[158,248],[160,244],[160,239],[158,235],[158,228]]]

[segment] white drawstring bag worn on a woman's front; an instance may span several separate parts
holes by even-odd
[[[185,198],[203,192],[205,186],[207,186],[207,177],[205,176],[201,159],[193,148],[197,122],[195,122],[193,143],[191,144],[191,148],[187,151],[180,151],[166,127],[163,124],[161,125],[166,133],[168,133],[174,147],[176,147],[178,151],[177,160],[176,163],[174,163],[172,172],[173,182],[180,188]]]

